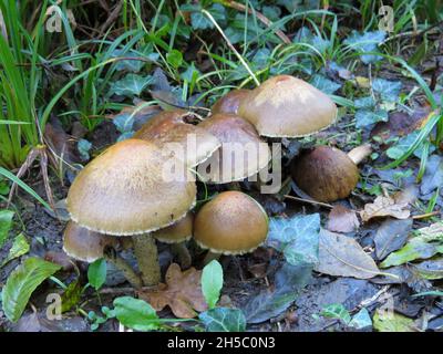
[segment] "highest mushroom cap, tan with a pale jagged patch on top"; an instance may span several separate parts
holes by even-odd
[[[300,137],[330,126],[337,106],[328,95],[307,82],[278,75],[253,90],[241,102],[238,115],[268,137]]]

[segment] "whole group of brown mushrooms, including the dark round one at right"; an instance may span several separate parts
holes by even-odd
[[[64,250],[85,262],[105,258],[136,288],[161,281],[156,241],[171,244],[182,268],[193,262],[186,247],[192,239],[208,250],[204,263],[220,254],[251,252],[267,237],[268,217],[250,196],[229,190],[233,183],[268,167],[266,138],[315,134],[336,116],[327,95],[289,75],[271,77],[254,90],[231,91],[206,118],[164,111],[79,173],[66,199],[71,221]],[[291,174],[313,198],[342,198],[357,184],[356,165],[364,154],[357,155],[317,147],[292,163]],[[167,178],[165,166],[183,170],[181,178]],[[196,180],[215,185],[217,191],[197,212]],[[138,271],[119,256],[128,246]]]

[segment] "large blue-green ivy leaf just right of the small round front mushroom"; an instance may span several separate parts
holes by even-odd
[[[286,260],[298,266],[318,262],[320,215],[296,215],[269,220],[268,244],[282,251]]]

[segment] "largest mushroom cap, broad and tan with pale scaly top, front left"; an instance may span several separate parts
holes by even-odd
[[[165,178],[172,165],[186,175]],[[196,186],[188,174],[183,162],[165,156],[155,144],[126,139],[80,171],[68,194],[68,211],[80,226],[101,233],[155,231],[194,207]]]

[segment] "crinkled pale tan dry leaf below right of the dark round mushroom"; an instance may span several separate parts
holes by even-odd
[[[406,209],[409,202],[396,202],[391,197],[379,196],[373,202],[367,204],[360,211],[363,222],[379,217],[393,217],[395,219],[408,219],[411,211]]]

